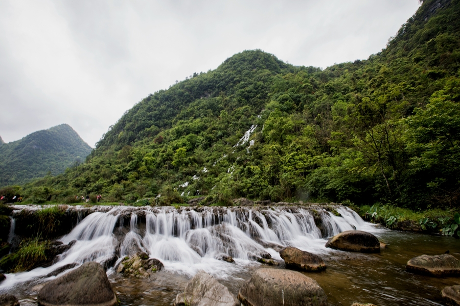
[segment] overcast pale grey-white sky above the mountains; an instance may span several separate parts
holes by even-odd
[[[418,0],[0,1],[0,136],[67,123],[91,147],[134,104],[248,49],[367,59]]]

